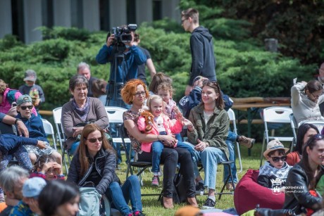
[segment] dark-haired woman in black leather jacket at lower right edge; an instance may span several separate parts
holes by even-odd
[[[314,193],[316,184],[324,174],[324,139],[316,134],[306,142],[302,159],[289,171],[285,185],[285,209],[311,215],[310,211],[320,210],[323,198]],[[315,196],[314,196],[315,195]],[[320,194],[322,195],[322,194]]]

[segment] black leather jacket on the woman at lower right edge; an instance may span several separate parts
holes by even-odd
[[[321,172],[323,173],[323,167]],[[323,199],[309,193],[309,179],[301,163],[297,163],[289,171],[285,188],[284,209],[294,210],[296,214],[304,212],[305,208],[319,210]]]

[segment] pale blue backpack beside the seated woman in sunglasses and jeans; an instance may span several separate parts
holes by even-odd
[[[100,195],[94,187],[80,187],[79,216],[111,215],[111,205],[105,195]],[[101,207],[104,201],[104,209]]]

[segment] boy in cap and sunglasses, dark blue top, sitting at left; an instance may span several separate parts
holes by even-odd
[[[53,155],[56,162],[62,164],[62,156],[60,153],[54,150],[49,146],[49,141],[46,139],[46,134],[44,132],[43,122],[39,116],[36,116],[32,113],[32,98],[24,94],[20,96],[17,100],[17,118],[22,120],[30,134],[30,138],[35,138],[37,140],[42,140],[46,144],[47,148],[39,149],[37,146],[27,145],[25,148],[27,149],[30,160],[32,164],[35,163],[37,158],[40,155]]]

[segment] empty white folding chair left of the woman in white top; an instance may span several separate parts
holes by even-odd
[[[263,151],[265,150],[266,144],[270,139],[278,139],[279,141],[293,141],[294,136],[269,136],[268,134],[268,123],[282,123],[291,124],[289,115],[292,114],[292,108],[273,106],[265,108],[263,110],[263,122],[264,122],[264,134],[263,143],[260,159],[260,167],[263,160]]]

